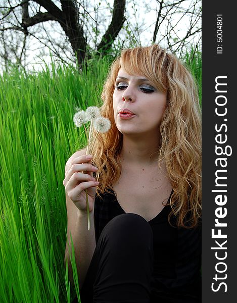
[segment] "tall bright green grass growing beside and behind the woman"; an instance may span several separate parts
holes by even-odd
[[[87,72],[52,64],[51,70],[12,69],[0,77],[1,303],[79,298],[64,268],[64,168],[85,144],[73,125],[75,107],[100,105],[109,64],[92,60]],[[194,63],[192,70],[198,70]]]

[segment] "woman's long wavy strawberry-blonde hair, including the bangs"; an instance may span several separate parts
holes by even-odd
[[[196,227],[201,222],[201,109],[197,86],[178,58],[157,44],[124,49],[111,66],[101,107],[102,115],[111,121],[111,129],[100,134],[93,148],[93,162],[99,168],[98,194],[108,191],[121,174],[123,134],[115,125],[112,99],[120,68],[130,75],[145,76],[167,93],[158,165],[165,163],[173,188],[168,220],[174,215],[176,226]]]

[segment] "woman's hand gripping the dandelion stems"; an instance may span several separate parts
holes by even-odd
[[[96,186],[100,183],[93,178],[92,172],[96,172],[98,168],[90,164],[91,159],[91,155],[83,155],[72,160],[63,180],[69,198],[83,213],[86,213],[86,194],[84,190],[87,189],[89,212],[91,212],[94,207]]]

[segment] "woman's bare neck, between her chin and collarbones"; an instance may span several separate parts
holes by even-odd
[[[121,160],[135,165],[158,162],[160,138],[146,135],[142,138],[123,135]],[[154,143],[155,142],[155,143]]]

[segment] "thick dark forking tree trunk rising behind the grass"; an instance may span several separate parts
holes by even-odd
[[[18,5],[22,7],[22,22],[19,25],[13,27],[4,28],[3,30],[20,30],[28,34],[28,27],[45,21],[57,21],[62,26],[68,40],[72,46],[73,52],[76,56],[79,66],[89,58],[87,52],[87,43],[84,37],[83,28],[79,23],[79,7],[77,0],[60,0],[61,9],[54,4],[52,0],[32,0],[43,7],[46,12],[38,11],[34,16],[29,15],[30,2],[22,0]],[[111,47],[117,37],[120,29],[125,21],[126,0],[114,0],[113,17],[112,21],[102,37],[100,44],[97,47],[98,54],[104,56],[106,51]],[[10,7],[10,11],[14,8]],[[6,15],[6,17],[8,14]],[[0,28],[1,30],[1,28]]]

